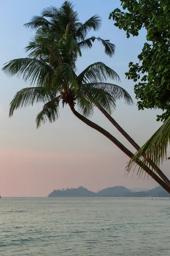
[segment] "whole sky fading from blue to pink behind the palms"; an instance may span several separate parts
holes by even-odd
[[[100,43],[85,51],[77,61],[78,72],[89,64],[102,61],[119,74],[120,86],[125,88],[133,98],[135,105],[127,106],[124,101],[117,102],[113,118],[139,145],[161,125],[156,122],[158,110],[138,111],[133,93],[134,82],[125,78],[130,61],[137,62],[137,56],[145,42],[145,31],[138,37],[126,38],[125,31],[108,20],[110,12],[120,7],[119,0],[73,0],[75,10],[79,12],[81,22],[99,14],[102,27],[89,35],[110,39],[116,45],[116,54],[109,58],[104,54]],[[33,15],[40,15],[48,6],[60,7],[63,0],[6,0],[0,1],[1,38],[0,67],[14,58],[26,56],[27,46],[34,31],[26,29],[23,24]],[[112,81],[116,83],[115,81]],[[98,191],[110,186],[127,188],[153,188],[157,183],[151,178],[138,179],[136,172],[125,178],[125,167],[129,158],[110,140],[77,119],[66,106],[60,108],[60,118],[53,124],[46,123],[38,130],[35,117],[42,106],[34,105],[14,112],[8,118],[9,104],[14,94],[28,87],[22,79],[8,78],[0,71],[0,195],[1,196],[47,196],[54,189],[85,186]],[[101,125],[133,153],[135,150],[109,123],[99,111],[94,112],[92,121]],[[168,162],[161,169],[168,174]]]

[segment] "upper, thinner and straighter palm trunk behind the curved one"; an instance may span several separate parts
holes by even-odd
[[[106,116],[106,118],[117,128],[117,130],[130,142],[131,145],[133,145],[136,150],[139,150],[139,145],[123,130],[123,128],[109,115],[107,111],[105,111],[104,108],[102,108],[100,105],[98,105],[95,102],[96,107]],[[153,167],[153,169],[157,172],[157,174],[164,180],[164,182],[170,186],[170,180],[164,175],[164,173],[156,166],[155,163],[151,160],[147,160],[148,163]]]

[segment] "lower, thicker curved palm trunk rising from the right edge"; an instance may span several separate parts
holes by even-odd
[[[79,118],[82,122],[84,122],[86,125],[90,126],[91,128],[94,128],[96,131],[99,131],[101,134],[103,134],[105,137],[107,137],[109,140],[111,140],[118,148],[120,148],[128,157],[133,157],[133,153],[130,152],[122,143],[119,142],[113,135],[111,135],[108,131],[97,125],[96,123],[90,121],[85,116],[82,116],[80,113],[78,113],[73,103],[69,103],[69,106],[71,108],[71,111],[74,113],[77,118]],[[142,163],[142,161],[138,160],[136,163],[144,169],[145,172],[147,172],[148,175],[150,175],[157,183],[159,183],[160,186],[162,186],[168,193],[170,193],[170,186],[168,186],[161,178],[159,178],[152,170],[150,170],[146,165]]]

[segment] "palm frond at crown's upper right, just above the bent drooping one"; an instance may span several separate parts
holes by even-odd
[[[85,40],[88,32],[91,31],[91,29],[97,31],[101,25],[101,17],[99,15],[94,15],[77,29],[75,37],[81,40]]]

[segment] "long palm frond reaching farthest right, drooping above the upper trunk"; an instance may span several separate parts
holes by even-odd
[[[124,99],[125,103],[127,105],[133,105],[133,100],[130,97],[129,93],[122,87],[116,84],[110,84],[110,83],[88,83],[88,84],[82,84],[82,90],[87,90],[88,88],[99,88],[102,90],[105,90],[107,93],[110,93],[115,100]]]

